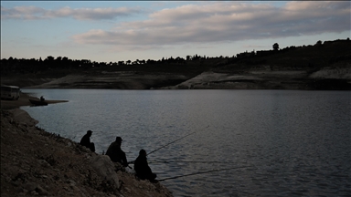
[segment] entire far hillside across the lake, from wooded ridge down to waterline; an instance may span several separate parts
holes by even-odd
[[[349,39],[244,52],[233,57],[177,57],[130,65],[69,68],[58,62],[57,67],[35,71],[22,68],[20,73],[9,61],[5,61],[5,69],[3,62],[1,83],[21,88],[351,90]]]

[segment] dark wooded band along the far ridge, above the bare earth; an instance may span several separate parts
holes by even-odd
[[[112,69],[121,71],[147,71],[147,72],[202,72],[210,67],[218,67],[240,63],[250,65],[273,64],[273,65],[290,65],[291,67],[314,67],[316,65],[330,64],[335,61],[349,60],[351,50],[349,38],[346,40],[335,41],[317,41],[314,46],[303,47],[285,47],[279,49],[279,44],[275,43],[272,50],[261,50],[239,53],[232,57],[201,57],[186,56],[169,57],[159,60],[139,60],[135,61],[118,61],[118,62],[96,62],[89,59],[69,59],[69,57],[46,57],[44,60],[39,59],[17,59],[9,57],[1,59],[1,75],[10,75],[18,73],[48,72],[55,70],[57,75],[67,74],[67,72],[87,70],[91,68]],[[348,56],[347,56],[348,55]],[[293,62],[292,62],[293,60]],[[303,61],[303,64],[301,64]],[[215,65],[214,65],[215,64]],[[60,73],[58,70],[66,70]]]

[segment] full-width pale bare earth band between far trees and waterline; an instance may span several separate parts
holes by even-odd
[[[16,79],[8,83],[16,84]],[[169,81],[177,81],[170,85]],[[301,69],[271,69],[270,66],[248,68],[237,73],[205,71],[188,78],[186,75],[134,74],[100,72],[94,75],[67,75],[27,88],[116,88],[116,89],[351,89],[351,63],[323,67],[312,73]]]

